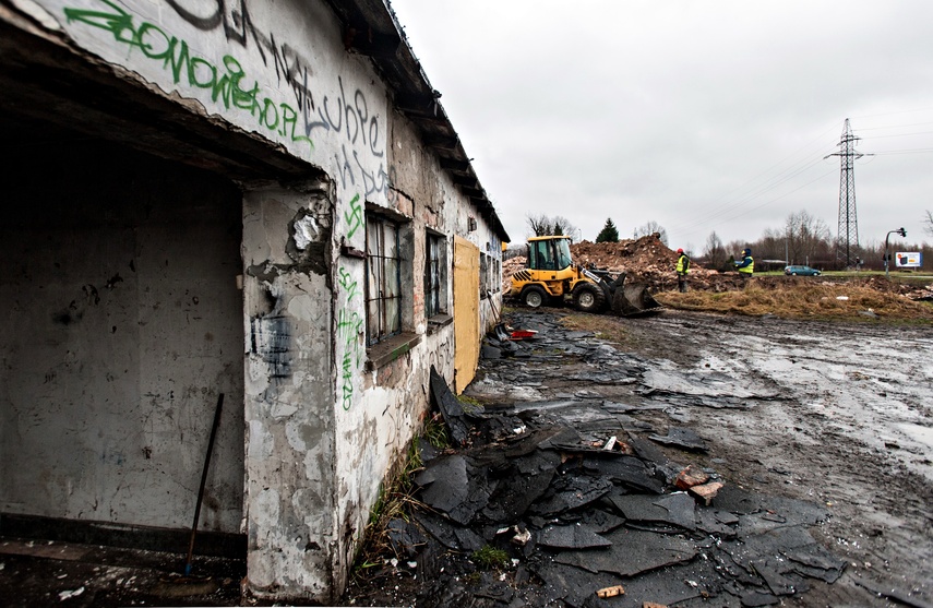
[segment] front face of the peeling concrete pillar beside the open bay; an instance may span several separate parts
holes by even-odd
[[[332,290],[326,184],[262,189],[243,207],[249,577],[326,596],[334,541]]]

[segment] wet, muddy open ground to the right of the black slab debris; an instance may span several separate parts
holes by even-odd
[[[521,312],[513,322],[535,319]],[[516,386],[524,394],[515,396],[586,390],[639,404],[632,413],[638,420],[704,438],[709,452],[701,464],[727,482],[824,505],[830,516],[811,533],[848,568],[834,584],[815,582],[786,604],[933,606],[933,327],[670,310],[599,323],[607,333],[622,330],[621,351],[651,361],[659,377],[653,392],[587,384],[581,378],[590,366],[555,361],[536,370],[548,380]],[[771,396],[752,407],[698,405],[677,383],[685,377],[720,382],[722,396]]]

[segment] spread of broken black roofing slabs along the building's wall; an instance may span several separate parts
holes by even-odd
[[[395,559],[378,577],[418,581],[416,606],[516,608],[767,606],[806,592],[810,581],[839,579],[846,562],[810,534],[829,516],[825,508],[683,464],[707,442],[632,417],[658,402],[715,407],[730,392],[754,407],[777,398],[773,390],[714,372],[674,382],[636,355],[579,339],[547,313],[516,313],[511,323],[535,337],[487,338],[498,351],[469,389],[486,407],[458,408],[433,374],[433,401],[456,446],[422,451],[417,500],[390,526]],[[538,390],[569,360],[629,386],[638,403],[586,390],[541,398]],[[470,559],[479,551],[502,552],[505,565],[480,568]]]

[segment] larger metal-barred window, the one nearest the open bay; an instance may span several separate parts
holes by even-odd
[[[367,345],[402,331],[402,254],[398,224],[367,214]]]

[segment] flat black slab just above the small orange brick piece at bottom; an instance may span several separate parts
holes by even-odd
[[[612,543],[611,547],[563,551],[554,557],[554,561],[589,572],[635,576],[696,556],[695,545],[677,536],[619,528],[606,537]]]

